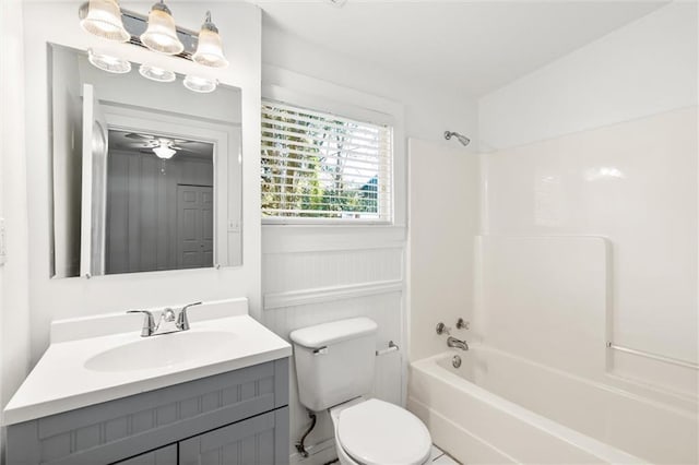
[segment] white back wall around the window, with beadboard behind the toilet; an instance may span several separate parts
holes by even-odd
[[[319,102],[330,102],[340,114],[347,108],[398,116],[402,135],[395,141],[395,157],[403,166],[395,182],[403,189],[407,180],[407,138],[417,136],[438,147],[453,147],[457,142],[447,143],[442,139],[443,131],[449,129],[476,139],[475,105],[455,90],[393,74],[375,63],[334,53],[268,25],[263,27],[262,61],[264,85],[288,88],[311,100],[318,97]],[[475,152],[475,142],[469,151]],[[377,348],[386,348],[389,341],[401,347],[400,355],[377,359],[375,379],[375,394],[395,403],[404,398],[410,344],[406,195],[405,190],[399,195],[393,227],[268,225],[262,228],[265,324],[288,337],[296,327],[325,321],[355,315],[375,319],[379,323]],[[428,318],[438,319],[439,314]],[[425,331],[428,337],[434,334],[434,327]],[[292,377],[292,442],[295,442],[310,421],[296,401],[294,373]],[[332,448],[328,449],[332,437],[330,419],[321,415],[316,430],[307,439],[307,444],[320,444],[313,452],[321,452],[305,463],[322,464],[333,458]],[[295,453],[294,448],[291,452]],[[293,455],[293,462],[298,460],[298,455]]]

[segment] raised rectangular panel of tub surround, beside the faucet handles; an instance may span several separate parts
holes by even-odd
[[[599,237],[479,237],[472,333],[549,367],[605,374],[607,248]]]

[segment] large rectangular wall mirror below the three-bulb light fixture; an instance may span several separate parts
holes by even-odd
[[[240,90],[49,45],[54,277],[241,264]]]

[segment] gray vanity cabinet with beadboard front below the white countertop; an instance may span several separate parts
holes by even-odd
[[[7,429],[7,465],[288,463],[288,358]]]

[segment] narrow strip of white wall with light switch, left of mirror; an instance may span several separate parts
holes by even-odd
[[[5,218],[8,252],[0,266],[0,406],[4,406],[28,369],[29,294],[21,1],[3,1],[0,11],[0,216]]]

